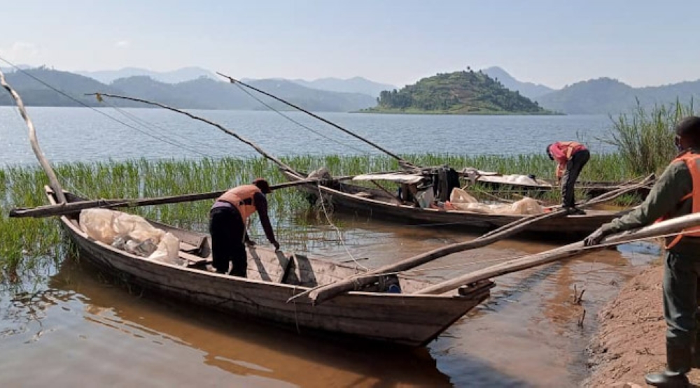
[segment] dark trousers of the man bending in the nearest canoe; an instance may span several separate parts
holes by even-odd
[[[218,273],[228,272],[229,262],[233,263],[230,274],[246,277],[248,256],[243,243],[246,227],[237,208],[213,208],[209,212],[209,233],[211,233],[211,255]]]

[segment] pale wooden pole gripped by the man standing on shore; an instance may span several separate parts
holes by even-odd
[[[494,266],[488,266],[478,271],[459,276],[458,278],[446,280],[442,283],[438,283],[437,285],[427,287],[426,289],[422,289],[421,291],[416,292],[415,294],[442,294],[444,292],[448,292],[451,289],[461,287],[462,285],[468,285],[473,282],[478,282],[479,280],[490,279],[495,276],[521,271],[526,268],[532,268],[534,266],[541,266],[542,264],[566,259],[577,254],[585,253],[589,250],[598,250],[602,247],[624,244],[633,240],[643,240],[646,238],[665,236],[671,233],[678,233],[684,229],[696,227],[698,225],[700,225],[699,213],[685,215],[683,217],[678,218],[672,218],[671,220],[666,220],[664,222],[652,224],[649,227],[644,227],[636,231],[628,231],[608,236],[603,240],[603,242],[600,245],[584,247],[583,242],[579,241],[578,243],[564,245],[563,247],[558,247],[556,249],[548,250],[546,252],[531,254],[525,257],[521,257],[519,259],[505,261]]]

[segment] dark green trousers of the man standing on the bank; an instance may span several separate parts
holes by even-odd
[[[698,278],[700,257],[696,254],[666,252],[664,265],[664,317],[668,370],[686,373],[690,354],[698,342]]]

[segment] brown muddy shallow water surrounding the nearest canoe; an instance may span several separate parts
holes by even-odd
[[[342,229],[365,266],[472,238],[349,219]],[[553,246],[503,241],[412,274],[437,282]],[[307,249],[349,259],[328,228],[309,233]],[[34,291],[0,294],[0,386],[577,387],[587,378],[585,347],[598,308],[656,255],[653,246],[626,245],[497,278],[489,301],[416,350],[302,336],[245,319],[224,324],[230,319],[130,293],[65,259]],[[573,303],[574,286],[585,289],[581,306]]]

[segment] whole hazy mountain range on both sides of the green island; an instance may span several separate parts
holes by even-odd
[[[83,96],[87,92],[115,92],[143,96],[180,108],[202,109],[262,109],[260,103],[246,96],[237,87],[223,82],[214,72],[199,67],[187,67],[174,71],[151,71],[125,68],[115,71],[67,72],[45,67],[30,69],[20,65],[49,85],[57,87],[76,99],[96,104],[94,99]],[[76,103],[25,76],[21,72],[3,67],[8,79],[15,84],[28,105],[74,106]],[[687,103],[700,99],[700,80],[679,82],[656,87],[631,87],[618,80],[598,78],[567,85],[556,90],[533,82],[522,82],[499,67],[483,69],[482,73],[500,82],[507,89],[537,101],[542,108],[566,114],[624,113],[636,106],[650,107],[659,103],[673,103],[676,99]],[[348,112],[377,106],[382,91],[398,89],[393,85],[355,77],[321,78],[318,80],[248,80],[251,85],[288,99],[309,110]],[[266,100],[267,101],[267,100]],[[276,108],[284,108],[273,103]],[[0,103],[10,104],[6,94],[0,93]],[[129,104],[124,104],[129,106]]]

